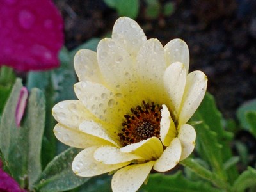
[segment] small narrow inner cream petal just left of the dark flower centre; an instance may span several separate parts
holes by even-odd
[[[105,129],[104,129],[105,128]],[[109,143],[112,143],[113,145],[120,147],[118,143],[116,143],[111,136],[108,135],[108,132],[106,131],[106,127],[102,127],[102,125],[93,122],[92,120],[84,121],[79,125],[79,129],[81,132],[85,132],[86,134],[90,134],[92,136],[96,136],[98,138],[102,138],[102,140],[109,141]]]

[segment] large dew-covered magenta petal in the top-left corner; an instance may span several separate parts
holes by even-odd
[[[20,71],[60,65],[63,19],[51,0],[0,0],[0,66]]]

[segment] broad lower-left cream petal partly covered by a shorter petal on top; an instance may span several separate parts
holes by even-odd
[[[74,173],[76,173],[76,175],[81,177],[92,177],[111,172],[129,164],[129,162],[119,164],[100,163],[93,157],[93,154],[97,148],[99,148],[99,146],[88,147],[77,154],[72,163],[72,170]]]

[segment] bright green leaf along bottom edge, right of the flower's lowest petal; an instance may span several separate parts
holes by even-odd
[[[174,175],[163,175],[163,174],[151,174],[147,185],[142,186],[140,191],[220,191],[217,188],[212,187],[209,184],[205,184],[202,181],[191,181],[186,179],[181,172],[177,172]]]

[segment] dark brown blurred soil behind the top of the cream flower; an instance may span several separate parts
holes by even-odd
[[[65,20],[65,45],[73,49],[93,37],[104,37],[119,17],[102,0],[55,0]],[[161,4],[167,1],[159,1]],[[136,21],[148,38],[163,45],[173,38],[186,41],[190,70],[202,70],[226,118],[256,98],[256,1],[173,1],[175,12],[149,19],[145,1],[140,1]]]

